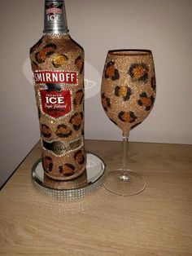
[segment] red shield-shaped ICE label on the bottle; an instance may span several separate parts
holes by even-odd
[[[50,117],[63,117],[71,111],[70,90],[40,90],[40,94],[42,111]]]

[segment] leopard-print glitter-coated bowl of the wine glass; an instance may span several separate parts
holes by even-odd
[[[155,103],[155,68],[151,51],[109,51],[101,98],[107,117],[124,136],[151,112]]]

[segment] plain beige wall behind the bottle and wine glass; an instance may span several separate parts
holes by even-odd
[[[0,185],[39,139],[27,58],[41,37],[43,2],[1,2]],[[192,1],[66,0],[66,7],[72,38],[85,49],[85,78],[94,82],[86,90],[85,138],[120,139],[97,94],[108,49],[148,48],[154,53],[157,99],[130,139],[192,143]]]

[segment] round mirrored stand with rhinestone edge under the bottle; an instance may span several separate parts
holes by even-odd
[[[32,180],[35,188],[45,196],[59,200],[73,200],[89,195],[102,187],[105,179],[105,164],[94,153],[86,152],[86,170],[81,176],[69,181],[50,179],[44,173],[41,159],[36,161],[32,169]]]

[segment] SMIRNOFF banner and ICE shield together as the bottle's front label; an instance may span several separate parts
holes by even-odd
[[[55,119],[72,112],[72,90],[65,86],[78,84],[76,72],[35,71],[33,82],[37,86],[37,102],[41,113]]]

